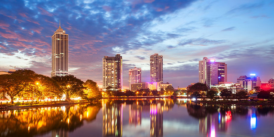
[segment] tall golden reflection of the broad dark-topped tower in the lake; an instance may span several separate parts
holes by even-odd
[[[103,136],[122,136],[123,104],[103,102]]]

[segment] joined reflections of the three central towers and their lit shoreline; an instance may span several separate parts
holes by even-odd
[[[122,136],[125,104],[129,104],[129,125],[141,125],[142,112],[149,113],[150,136],[163,136],[163,112],[174,106],[173,100],[103,100],[103,136]]]

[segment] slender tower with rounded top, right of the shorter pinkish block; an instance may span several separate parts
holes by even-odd
[[[157,53],[150,56],[150,82],[163,83],[163,56]]]

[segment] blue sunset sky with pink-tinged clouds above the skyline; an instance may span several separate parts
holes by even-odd
[[[163,55],[163,82],[174,88],[198,82],[203,57],[226,62],[228,81],[255,73],[274,78],[274,2],[271,0],[73,0],[0,4],[0,71],[31,69],[51,76],[51,36],[69,35],[68,71],[102,86],[102,58],[121,54],[128,69]]]

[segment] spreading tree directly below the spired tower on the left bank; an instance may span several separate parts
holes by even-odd
[[[62,93],[66,95],[66,100],[70,100],[71,97],[83,97],[85,87],[81,79],[77,79],[73,75],[52,78],[59,83]]]

